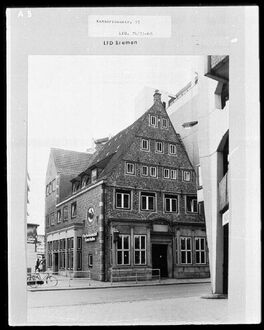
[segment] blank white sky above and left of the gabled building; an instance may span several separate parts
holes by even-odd
[[[86,151],[136,118],[145,87],[176,94],[196,70],[195,56],[29,56],[28,222],[44,234],[50,148]]]

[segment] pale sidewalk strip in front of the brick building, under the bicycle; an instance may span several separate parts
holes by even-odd
[[[115,287],[133,287],[133,286],[153,286],[153,285],[177,285],[177,284],[196,284],[210,283],[210,278],[194,278],[194,279],[176,279],[167,278],[150,281],[124,281],[124,282],[101,282],[86,278],[73,278],[64,276],[56,276],[58,284],[49,286],[48,284],[37,285],[34,288],[28,286],[28,291],[53,291],[53,290],[76,290],[76,289],[103,289]]]

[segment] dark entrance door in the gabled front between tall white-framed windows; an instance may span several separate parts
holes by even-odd
[[[152,268],[160,269],[161,277],[168,277],[167,244],[152,244]]]

